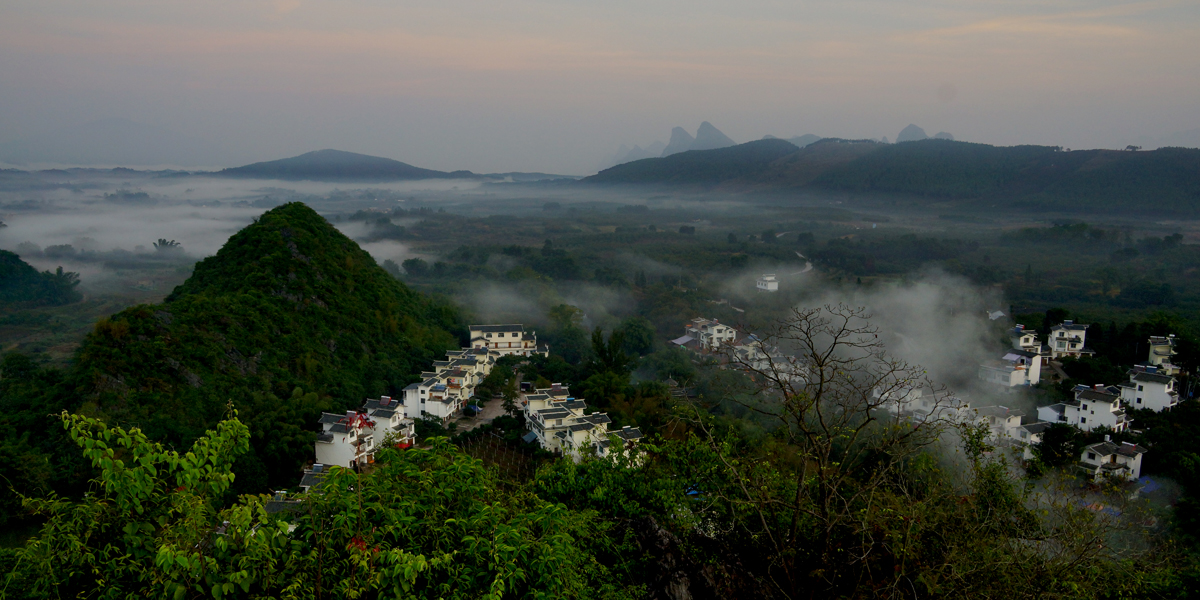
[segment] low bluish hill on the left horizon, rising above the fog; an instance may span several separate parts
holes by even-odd
[[[226,178],[287,179],[287,180],[353,180],[385,181],[415,179],[473,179],[469,170],[422,169],[412,164],[343,150],[317,150],[292,158],[256,162],[217,172]]]

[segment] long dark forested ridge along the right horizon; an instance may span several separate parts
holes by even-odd
[[[752,168],[746,168],[744,160],[718,154],[749,145],[686,152],[691,155],[686,157],[690,164],[707,167],[708,172],[680,169],[668,162],[674,157],[647,158],[613,167],[584,181],[720,184],[725,190],[989,199],[1004,202],[1007,206],[1057,211],[1200,210],[1200,150],[1196,149],[1064,151],[1054,146],[992,146],[942,139],[902,144],[823,139],[776,156],[769,163],[755,163]]]

